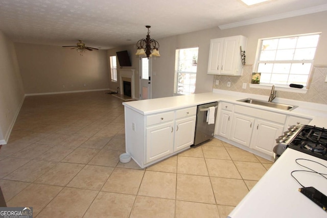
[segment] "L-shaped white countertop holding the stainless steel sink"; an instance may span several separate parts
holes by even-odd
[[[143,115],[148,115],[148,114],[160,113],[169,110],[176,110],[184,107],[206,104],[210,102],[225,101],[234,104],[251,106],[254,108],[281,112],[284,114],[292,114],[292,115],[306,117],[306,118],[313,118],[316,116],[327,117],[327,105],[276,98],[273,101],[275,103],[298,106],[292,111],[286,111],[286,110],[270,108],[261,105],[249,105],[248,103],[237,102],[237,100],[241,100],[245,98],[252,98],[252,99],[266,101],[268,99],[268,96],[214,89],[213,92],[171,96],[166,98],[149,99],[149,100],[142,100],[142,101],[124,102],[123,105],[138,113],[141,113]]]

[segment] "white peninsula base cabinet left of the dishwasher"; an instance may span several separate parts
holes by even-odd
[[[197,107],[142,115],[125,107],[126,152],[142,168],[190,147]]]

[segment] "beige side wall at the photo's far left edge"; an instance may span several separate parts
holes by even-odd
[[[14,44],[0,31],[0,144],[7,143],[24,100]]]

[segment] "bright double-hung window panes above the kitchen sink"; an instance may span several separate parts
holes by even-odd
[[[260,84],[307,87],[320,33],[259,40],[254,72]]]

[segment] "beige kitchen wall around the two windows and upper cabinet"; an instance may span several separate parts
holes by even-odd
[[[326,19],[327,12],[320,12],[226,30],[220,30],[217,27],[162,39],[155,38],[155,33],[152,33],[151,36],[160,43],[159,52],[161,55],[161,57],[153,58],[152,98],[173,95],[175,50],[182,47],[199,46],[196,93],[210,92],[213,87],[221,88],[220,86],[214,86],[214,80],[218,77],[222,78],[222,80],[226,80],[228,77],[214,77],[206,73],[209,57],[209,43],[210,39],[213,38],[233,35],[244,35],[248,37],[246,64],[251,66],[254,63],[256,47],[260,38],[322,32],[314,65],[327,65],[325,56],[325,48],[327,47],[327,23],[324,22]],[[125,47],[125,49],[132,51],[131,56],[133,58],[135,57],[135,45]],[[108,54],[113,54],[112,51],[114,50],[108,50]],[[138,62],[133,62],[132,65],[132,68],[138,70]],[[238,83],[241,79],[240,77],[232,78],[236,84],[241,84]],[[323,83],[322,86],[326,87],[327,83]],[[238,89],[239,87],[236,88],[236,90]],[[138,90],[135,91],[138,92]],[[284,96],[286,95],[287,94]],[[303,95],[300,96],[296,94],[295,96],[296,100],[300,101],[307,101],[307,99],[309,99],[308,95],[305,95],[304,98]],[[318,103],[324,104],[324,102]]]

